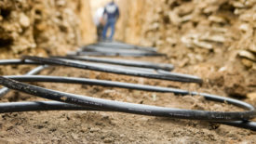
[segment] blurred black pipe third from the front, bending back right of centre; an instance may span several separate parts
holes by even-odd
[[[35,57],[36,59],[36,57]],[[42,59],[42,58],[39,58]],[[46,60],[46,59],[45,59]],[[51,64],[53,65],[63,65],[62,63],[58,62],[59,59],[57,58],[52,58],[52,59],[47,59],[47,61],[51,61]],[[65,59],[60,59],[62,61],[67,61]],[[59,61],[60,61],[59,60]],[[88,70],[95,70],[95,71],[100,71],[100,72],[113,72],[113,73],[120,73],[120,74],[127,74],[127,75],[133,75],[133,76],[142,76],[142,77],[150,77],[150,78],[155,78],[155,79],[164,79],[164,80],[169,80],[169,81],[178,81],[178,82],[187,82],[187,83],[202,83],[202,80],[194,75],[188,75],[188,74],[182,74],[182,73],[175,73],[175,72],[166,72],[163,70],[152,70],[152,69],[147,69],[147,68],[135,68],[135,67],[121,67],[121,66],[110,66],[110,65],[103,65],[103,64],[97,64],[97,63],[83,63],[79,61],[74,61],[74,60],[68,60],[71,61],[72,63],[78,63],[80,67],[75,67],[74,64],[72,65],[69,63],[70,67],[75,67],[75,68],[82,68],[82,69],[89,69]],[[2,59],[0,60],[0,65],[7,65],[7,64],[43,64],[42,61],[33,61],[33,60],[28,60],[28,59]],[[56,64],[58,63],[58,64]],[[82,66],[82,67],[81,67]],[[97,69],[95,69],[97,68]]]

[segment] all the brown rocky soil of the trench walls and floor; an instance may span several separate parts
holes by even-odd
[[[174,72],[202,77],[203,85],[52,67],[40,74],[177,87],[240,98],[256,106],[256,2],[235,0],[119,0],[115,39],[156,46]],[[0,0],[0,59],[65,55],[94,40],[85,0]],[[93,7],[92,7],[93,9]],[[255,18],[254,18],[255,17]],[[134,59],[134,58],[128,58]],[[139,60],[139,59],[138,59]],[[1,75],[32,67],[1,66]],[[182,109],[240,111],[203,98],[90,85],[35,83],[64,92]],[[42,100],[12,91],[2,102]],[[254,121],[256,121],[254,119]],[[254,143],[256,133],[222,124],[117,112],[34,111],[0,114],[0,143]]]

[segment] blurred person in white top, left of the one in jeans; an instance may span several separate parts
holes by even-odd
[[[103,27],[104,27],[104,18],[103,18],[103,13],[104,13],[104,7],[100,7],[97,9],[94,17],[93,17],[93,21],[94,24],[97,27],[97,39],[98,41],[101,41],[101,35],[102,35],[102,31],[103,31]]]

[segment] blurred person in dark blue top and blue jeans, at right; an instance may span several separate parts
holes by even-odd
[[[102,38],[103,40],[112,41],[115,33],[115,22],[119,18],[119,8],[115,4],[114,0],[105,6],[104,18],[106,18],[106,24],[104,25],[104,28],[103,28]],[[106,34],[109,28],[111,28],[111,34],[110,34],[110,37],[106,38]]]

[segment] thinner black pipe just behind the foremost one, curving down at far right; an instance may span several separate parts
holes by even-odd
[[[236,105],[237,107],[247,109],[250,111],[254,110],[254,107],[246,102],[236,100],[233,98],[224,98],[216,95],[210,95],[207,93],[190,92],[187,90],[182,90],[178,88],[169,88],[153,85],[139,85],[130,84],[115,81],[105,81],[87,78],[76,78],[76,77],[62,77],[62,76],[47,76],[47,75],[9,75],[6,78],[13,79],[20,82],[53,82],[53,83],[69,83],[69,84],[82,84],[82,85],[101,85],[101,86],[112,86],[119,88],[136,89],[150,92],[161,92],[161,93],[173,93],[175,95],[192,95],[192,96],[202,96],[211,101],[217,101],[222,103],[230,103]]]

